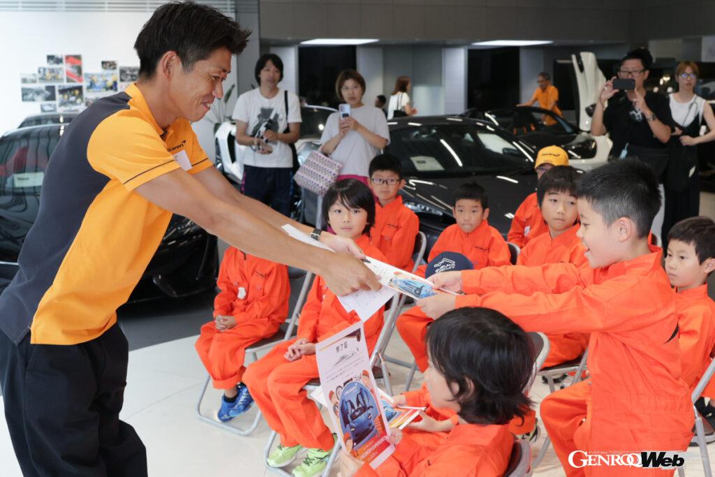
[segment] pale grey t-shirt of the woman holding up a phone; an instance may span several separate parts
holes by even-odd
[[[363,124],[368,131],[388,139],[388,144],[390,144],[388,120],[385,119],[385,113],[383,113],[382,109],[363,104],[359,108],[350,109],[350,116],[355,121]],[[337,136],[337,133],[340,132],[339,121],[339,112],[334,112],[327,117],[325,129],[323,129],[322,137],[320,137],[320,144],[325,144]],[[380,152],[379,149],[373,147],[359,132],[351,130],[345,134],[340,144],[337,144],[335,151],[330,154],[330,158],[337,162],[342,162],[340,175],[368,177],[370,161],[378,155],[378,152]]]

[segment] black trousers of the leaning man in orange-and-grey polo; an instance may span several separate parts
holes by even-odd
[[[79,345],[15,345],[0,332],[5,418],[24,476],[147,476],[147,452],[119,421],[129,345],[118,325]]]

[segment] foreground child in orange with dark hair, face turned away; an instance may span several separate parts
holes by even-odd
[[[534,362],[528,335],[495,310],[462,308],[435,320],[427,348],[430,402],[455,417],[436,421],[423,413],[422,421],[408,425],[411,430],[391,431],[395,452],[374,470],[342,452],[342,476],[501,476],[506,471],[515,442],[507,423],[530,404],[523,393]]]

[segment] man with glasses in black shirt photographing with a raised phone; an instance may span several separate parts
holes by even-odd
[[[654,169],[659,182],[668,163],[666,144],[674,126],[669,100],[663,94],[647,92],[644,82],[648,78],[653,56],[645,48],[629,51],[621,59],[618,78],[634,79],[635,89],[626,90],[626,94],[616,94],[611,78],[601,89],[601,96],[596,102],[591,121],[591,134],[603,136],[610,134],[613,146],[612,157],[638,157]],[[605,102],[608,101],[608,107]],[[661,197],[664,193],[660,186]],[[663,207],[656,215],[652,231],[660,236],[663,225]]]

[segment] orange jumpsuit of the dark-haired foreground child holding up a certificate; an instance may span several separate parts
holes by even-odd
[[[368,464],[356,477],[498,477],[503,476],[511,457],[514,436],[506,425],[460,424],[431,445],[420,435],[403,434],[392,456],[377,469]],[[431,441],[431,440],[430,440]]]

